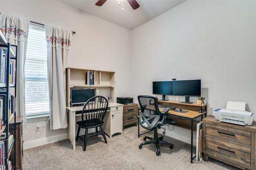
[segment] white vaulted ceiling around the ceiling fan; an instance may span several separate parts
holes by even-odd
[[[117,0],[107,0],[102,6],[95,5],[98,0],[57,1],[132,30],[186,0],[136,0],[140,7],[135,10],[127,0],[120,0],[120,5]]]

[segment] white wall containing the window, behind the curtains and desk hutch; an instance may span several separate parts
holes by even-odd
[[[67,67],[114,71],[115,96],[130,95],[130,30],[55,0],[1,0],[0,12],[75,31]],[[24,149],[67,139],[66,129],[50,131],[49,123],[36,132],[36,125],[46,122],[46,117],[28,119]]]

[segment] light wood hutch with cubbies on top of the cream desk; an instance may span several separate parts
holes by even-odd
[[[111,96],[115,102],[115,72],[89,70],[79,68],[66,68],[67,81],[67,107],[70,107],[70,90],[72,88],[95,88]],[[100,94],[105,96],[104,94]]]

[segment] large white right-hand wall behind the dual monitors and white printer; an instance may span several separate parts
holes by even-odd
[[[189,0],[133,29],[133,97],[152,95],[152,81],[201,79],[208,115],[238,101],[255,120],[255,9],[256,1]],[[186,137],[179,128],[171,133]]]

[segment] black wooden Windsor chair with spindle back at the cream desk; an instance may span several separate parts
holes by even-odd
[[[108,100],[103,96],[94,96],[90,98],[83,107],[82,110],[82,121],[76,122],[78,124],[78,130],[76,134],[76,141],[78,137],[84,141],[84,151],[86,150],[87,138],[101,134],[104,137],[105,143],[107,143],[106,136],[102,125],[104,124],[103,119],[108,109]],[[98,132],[100,127],[100,132]],[[80,129],[85,129],[84,139],[79,136]],[[88,135],[88,129],[95,128],[96,132],[92,135]]]

